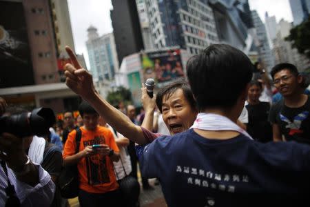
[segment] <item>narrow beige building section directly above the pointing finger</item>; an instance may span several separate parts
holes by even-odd
[[[50,0],[57,57],[65,56],[65,46],[74,51],[74,41],[67,0]]]

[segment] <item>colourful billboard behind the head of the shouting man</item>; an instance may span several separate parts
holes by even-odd
[[[185,77],[180,49],[158,50],[141,53],[143,78],[152,78],[158,88],[174,79]]]

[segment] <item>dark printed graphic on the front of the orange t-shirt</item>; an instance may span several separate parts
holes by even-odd
[[[92,140],[83,141],[84,146],[93,144],[105,144],[105,137],[98,136]],[[107,160],[103,155],[93,155],[86,157],[86,171],[88,184],[99,185],[110,183],[110,177],[107,171]]]

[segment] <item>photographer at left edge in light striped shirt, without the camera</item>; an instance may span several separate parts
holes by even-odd
[[[4,112],[6,104],[0,102]],[[0,135],[0,206],[49,206],[55,185],[48,172],[30,161],[24,144],[21,137]]]

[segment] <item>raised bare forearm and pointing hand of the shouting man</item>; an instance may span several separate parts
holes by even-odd
[[[65,50],[72,61],[72,64],[65,65],[65,83],[67,86],[90,103],[99,115],[122,135],[138,144],[146,144],[141,127],[133,124],[126,115],[100,97],[94,88],[92,75],[81,67],[71,48],[67,46]]]

